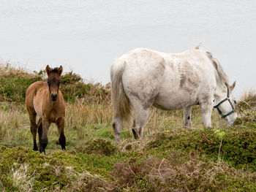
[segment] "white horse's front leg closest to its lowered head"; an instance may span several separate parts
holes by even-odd
[[[199,100],[202,118],[203,118],[203,126],[211,127],[211,112],[213,109],[213,99],[211,96],[204,97]]]

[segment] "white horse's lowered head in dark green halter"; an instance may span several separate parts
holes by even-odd
[[[227,120],[227,126],[232,126],[237,118],[236,99],[233,96],[233,89],[236,81],[231,86],[227,85],[226,91],[219,93],[219,97],[214,100],[214,109]]]

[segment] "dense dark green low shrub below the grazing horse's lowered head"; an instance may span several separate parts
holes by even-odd
[[[193,151],[210,158],[224,158],[237,168],[256,171],[256,130],[248,128],[234,128],[223,130],[222,145],[219,155],[221,138],[214,129],[188,130],[179,134],[157,134],[156,138],[148,143],[148,149],[158,151],[168,149]]]

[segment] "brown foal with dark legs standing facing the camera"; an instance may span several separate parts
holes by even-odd
[[[26,110],[29,112],[31,134],[33,135],[34,148],[37,148],[37,128],[39,136],[39,151],[45,153],[48,144],[48,131],[50,123],[56,123],[59,131],[59,144],[65,150],[66,138],[64,135],[65,101],[59,90],[62,66],[51,69],[46,66],[48,82],[37,81],[29,85],[26,91]],[[39,121],[36,123],[36,117]]]

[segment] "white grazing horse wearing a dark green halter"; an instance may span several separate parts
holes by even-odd
[[[143,127],[153,105],[162,110],[183,109],[184,126],[191,127],[192,106],[199,104],[203,125],[211,127],[213,107],[227,125],[237,118],[227,75],[211,53],[197,47],[184,53],[160,53],[139,48],[122,55],[111,66],[113,130],[121,139],[123,120],[135,110],[132,132],[143,137]],[[214,106],[215,104],[215,106]]]

